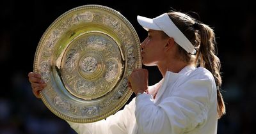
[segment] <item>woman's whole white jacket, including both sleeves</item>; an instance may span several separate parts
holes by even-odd
[[[156,93],[156,99],[151,94]],[[217,94],[211,72],[186,66],[136,96],[124,110],[95,123],[71,123],[77,133],[216,134]]]

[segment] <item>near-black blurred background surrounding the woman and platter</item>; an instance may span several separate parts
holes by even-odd
[[[37,44],[44,31],[62,13],[84,4],[101,4],[120,11],[136,29],[140,40],[147,32],[137,15],[156,17],[172,8],[196,12],[216,33],[227,114],[218,122],[218,134],[254,133],[255,4],[249,1],[17,1],[0,2],[0,134],[71,134],[68,124],[48,110],[31,92],[28,72],[33,71]],[[191,15],[196,16],[195,13]],[[161,79],[150,71],[150,85]]]

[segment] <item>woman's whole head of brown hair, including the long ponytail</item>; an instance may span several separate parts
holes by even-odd
[[[217,87],[218,100],[218,119],[225,114],[225,104],[220,93],[221,75],[220,75],[220,59],[216,56],[216,41],[215,34],[211,27],[202,24],[198,20],[193,19],[185,13],[179,11],[171,11],[168,13],[173,23],[180,29],[180,31],[188,38],[196,49],[196,57],[193,58],[182,47],[179,46],[179,53],[181,59],[186,63],[195,63],[196,66],[203,66],[211,71]]]

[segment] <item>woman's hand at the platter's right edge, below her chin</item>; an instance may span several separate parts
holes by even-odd
[[[137,95],[148,93],[148,70],[143,68],[134,69],[128,77],[128,86]]]

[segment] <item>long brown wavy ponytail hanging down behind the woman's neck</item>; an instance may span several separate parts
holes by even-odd
[[[220,92],[221,75],[220,75],[220,59],[216,56],[215,52],[215,34],[213,30],[205,24],[197,24],[197,29],[200,35],[199,52],[196,54],[196,63],[211,71],[217,87],[217,101],[218,101],[218,119],[225,114],[225,104]]]

